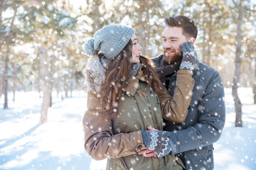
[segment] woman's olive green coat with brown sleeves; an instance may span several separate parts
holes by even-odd
[[[179,71],[174,98],[164,87],[165,95],[158,96],[146,88],[139,72],[137,79],[125,89],[120,113],[111,122],[99,111],[100,95],[88,91],[87,111],[83,118],[86,151],[93,159],[108,158],[107,169],[182,169],[181,160],[174,155],[146,158],[137,152],[146,149],[141,130],[147,130],[148,126],[163,130],[163,117],[176,122],[186,118],[193,83],[190,72]]]

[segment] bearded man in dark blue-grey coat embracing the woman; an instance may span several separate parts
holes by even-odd
[[[163,32],[164,54],[153,59],[161,82],[166,86],[171,96],[174,95],[176,71],[183,57],[195,55],[193,45],[196,42],[197,28],[186,16],[169,17],[165,19]],[[184,52],[184,45],[190,52]],[[188,62],[188,67],[191,64]],[[169,131],[158,135],[165,140],[171,140],[170,154],[178,154],[186,169],[213,169],[213,143],[218,141],[225,123],[225,103],[223,82],[218,72],[207,65],[198,62],[193,66],[193,88],[188,115],[183,123],[172,123],[165,120],[164,130]],[[157,132],[157,131],[155,131]],[[162,131],[161,131],[162,132]],[[145,134],[144,139],[154,143],[154,137]],[[153,142],[152,142],[153,141]],[[150,146],[147,148],[154,148]],[[153,150],[153,149],[151,149]],[[164,151],[163,151],[164,152]],[[146,152],[144,152],[146,153]],[[151,155],[151,154],[149,154]]]

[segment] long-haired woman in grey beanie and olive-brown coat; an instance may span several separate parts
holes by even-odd
[[[142,130],[148,126],[162,130],[162,118],[185,120],[192,73],[178,71],[172,98],[141,50],[134,30],[120,25],[102,28],[85,43],[86,55],[92,56],[85,69],[85,149],[93,159],[109,158],[107,169],[182,169],[178,157],[160,154],[161,147],[154,150],[159,157],[137,152],[146,149]]]

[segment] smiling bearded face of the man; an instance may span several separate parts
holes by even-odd
[[[163,33],[164,61],[174,63],[181,60],[180,45],[184,42],[188,42],[188,40],[182,34],[182,28],[166,26]]]

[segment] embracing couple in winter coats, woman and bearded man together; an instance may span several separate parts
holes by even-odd
[[[213,169],[225,123],[223,83],[198,62],[194,22],[165,19],[164,53],[140,54],[132,28],[110,25],[85,43],[85,149],[107,169]],[[164,126],[165,125],[165,126]]]

